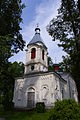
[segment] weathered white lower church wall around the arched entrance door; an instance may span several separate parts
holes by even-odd
[[[53,106],[57,99],[62,99],[60,84],[65,86],[65,82],[61,83],[60,79],[52,73],[29,75],[24,79],[17,79],[14,90],[15,107],[27,107],[27,96],[30,88],[35,90],[35,104],[44,102],[47,107]]]

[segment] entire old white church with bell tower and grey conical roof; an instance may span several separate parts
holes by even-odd
[[[37,26],[27,45],[24,76],[15,79],[14,107],[31,109],[44,102],[51,108],[56,100],[69,98],[78,102],[75,81],[69,73],[48,71],[48,49]]]

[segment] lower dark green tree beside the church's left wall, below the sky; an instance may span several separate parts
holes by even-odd
[[[24,74],[24,64],[22,62],[8,62],[5,67],[6,71],[3,71],[0,82],[1,92],[1,104],[5,109],[10,109],[12,106],[14,81],[16,77],[22,77]],[[5,73],[5,74],[4,74]]]

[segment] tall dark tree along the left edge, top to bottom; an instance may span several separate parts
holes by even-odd
[[[9,104],[15,77],[8,71],[12,67],[8,60],[25,46],[20,33],[23,8],[21,0],[0,0],[0,94],[4,96],[3,104],[7,102],[5,105]]]

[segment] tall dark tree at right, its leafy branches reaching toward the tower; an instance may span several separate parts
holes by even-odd
[[[76,82],[80,101],[80,2],[61,0],[58,16],[47,26],[53,40],[59,40],[60,47],[68,54],[70,72]]]

